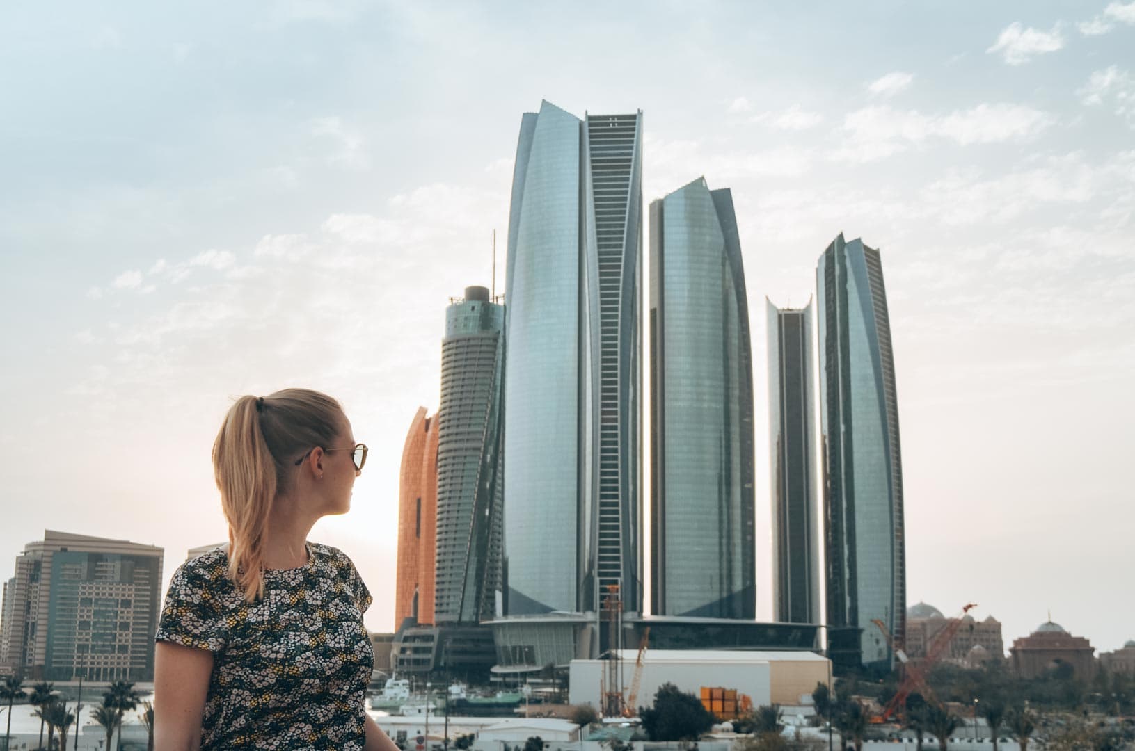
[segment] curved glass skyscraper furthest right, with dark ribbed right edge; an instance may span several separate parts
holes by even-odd
[[[902,639],[906,551],[894,357],[878,251],[860,239],[844,243],[841,234],[819,256],[816,287],[833,659],[889,670],[894,656],[872,621]]]

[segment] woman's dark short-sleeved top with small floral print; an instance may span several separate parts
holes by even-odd
[[[213,655],[201,749],[362,749],[375,664],[370,592],[342,551],[308,543],[301,568],[264,572],[245,602],[222,548],[174,573],[158,641]]]

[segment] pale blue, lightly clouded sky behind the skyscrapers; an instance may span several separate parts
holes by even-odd
[[[168,581],[226,538],[232,399],[306,386],[371,448],[312,539],[393,630],[402,446],[544,99],[641,109],[647,202],[732,188],[758,617],[764,297],[805,304],[842,231],[882,253],[908,602],[1135,639],[1135,1],[7,3],[0,574],[56,529],[162,546]]]

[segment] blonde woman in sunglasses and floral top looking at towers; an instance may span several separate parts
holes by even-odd
[[[371,598],[351,559],[308,542],[351,507],[367,461],[318,391],[244,396],[213,444],[227,546],[174,574],[154,651],[154,748],[396,751],[365,712]]]

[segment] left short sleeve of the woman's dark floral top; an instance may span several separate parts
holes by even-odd
[[[228,643],[228,627],[218,613],[215,582],[199,566],[191,560],[174,572],[154,640],[219,652]]]

